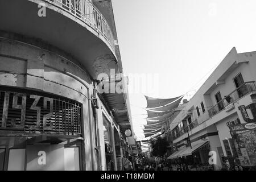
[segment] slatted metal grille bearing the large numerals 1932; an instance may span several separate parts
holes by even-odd
[[[50,94],[47,94],[49,97],[40,94],[0,90],[0,129],[81,133],[79,103]]]

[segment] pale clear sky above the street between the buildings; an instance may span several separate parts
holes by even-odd
[[[138,139],[147,117],[143,95],[189,100],[233,47],[256,51],[255,0],[112,3]]]

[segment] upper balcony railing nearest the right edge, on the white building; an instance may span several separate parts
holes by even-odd
[[[238,87],[236,90],[234,90],[232,93],[228,94],[228,96],[225,96],[224,99],[222,99],[220,102],[218,102],[216,105],[214,105],[212,108],[210,108],[209,116],[212,117],[213,115],[219,113],[223,109],[225,109],[226,106],[232,104],[234,101],[237,101],[239,98],[245,96],[249,92],[256,91],[254,81],[245,82],[240,87]]]

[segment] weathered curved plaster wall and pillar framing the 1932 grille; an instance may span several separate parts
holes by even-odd
[[[82,169],[93,169],[92,84],[85,71],[53,52],[14,40],[0,39],[0,85],[57,94],[82,104],[84,154]]]

